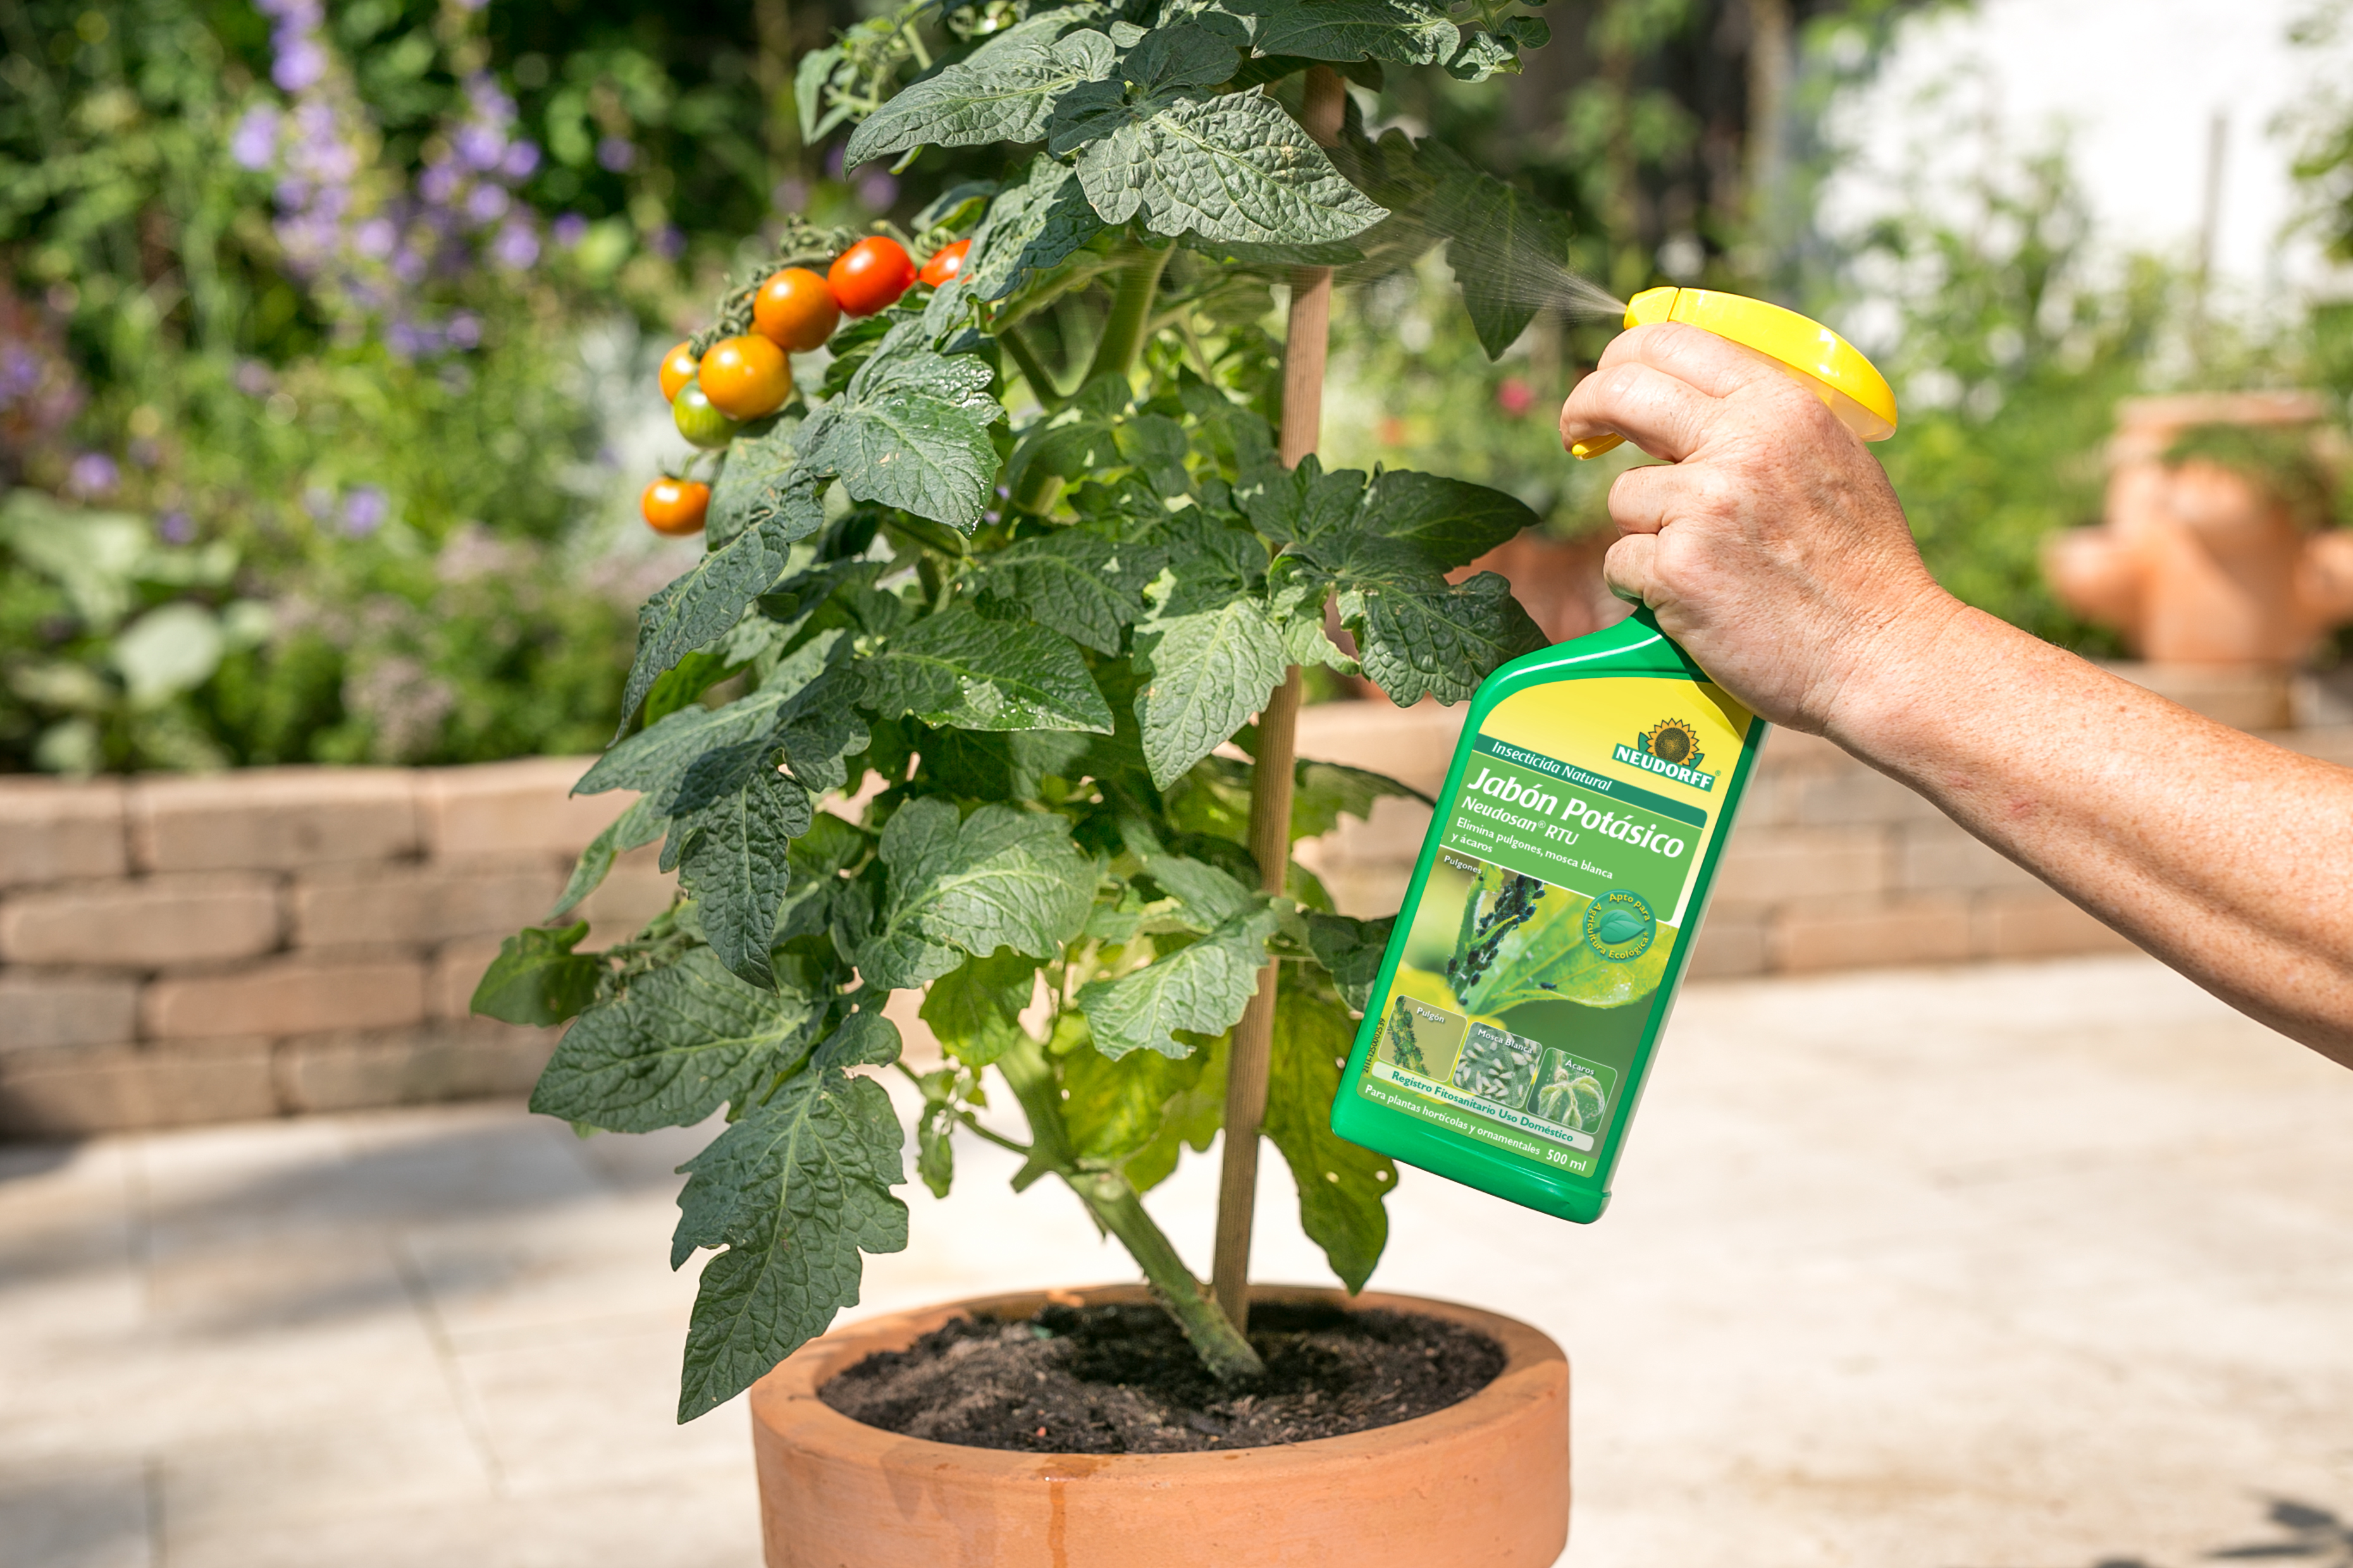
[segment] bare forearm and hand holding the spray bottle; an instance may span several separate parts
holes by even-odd
[[[2353,1065],[2353,771],[2202,719],[1944,592],[1800,383],[1682,324],[1617,339],[1605,576],[1760,715],[1821,733],[2217,997]]]

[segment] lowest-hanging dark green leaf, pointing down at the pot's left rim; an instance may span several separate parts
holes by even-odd
[[[889,1095],[849,1067],[887,1065],[899,1030],[852,1013],[809,1070],[685,1164],[673,1267],[694,1248],[727,1248],[704,1265],[678,1420],[713,1410],[814,1340],[859,1300],[861,1253],[906,1248],[906,1180]]]

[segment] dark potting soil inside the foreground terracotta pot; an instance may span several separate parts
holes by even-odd
[[[1405,1312],[1257,1307],[1266,1378],[1219,1385],[1158,1307],[955,1319],[833,1378],[842,1415],[936,1443],[1031,1453],[1214,1453],[1442,1410],[1504,1371],[1482,1333]]]

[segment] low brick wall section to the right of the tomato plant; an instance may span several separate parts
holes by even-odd
[[[1329,703],[1299,717],[1299,752],[1377,769],[1435,795],[1461,708]],[[2353,726],[2268,736],[2353,764]],[[1334,903],[1386,914],[1405,896],[1426,806],[1384,799],[1372,823],[1299,851]],[[1741,806],[1692,952],[1694,976],[1809,973],[2122,952],[2125,938],[1828,741],[1774,731]]]

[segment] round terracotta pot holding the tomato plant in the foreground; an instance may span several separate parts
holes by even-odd
[[[1508,1316],[1259,1286],[1261,1302],[1421,1312],[1504,1347],[1471,1399],[1351,1436],[1233,1453],[1049,1455],[882,1432],[816,1392],[955,1316],[1047,1300],[1139,1302],[1141,1286],[984,1295],[835,1328],[753,1385],[767,1568],[1551,1568],[1569,1537],[1569,1361]]]

